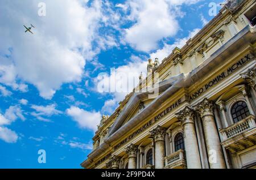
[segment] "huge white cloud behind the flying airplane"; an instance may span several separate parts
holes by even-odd
[[[50,99],[63,83],[81,80],[85,59],[92,59],[101,47],[115,44],[107,36],[106,46],[92,46],[104,16],[100,0],[46,0],[46,16],[38,16],[39,2],[0,1],[1,42],[5,42],[0,44],[0,52],[9,55],[9,63],[0,62],[0,82],[13,85],[16,79],[23,80]],[[34,35],[24,33],[23,24],[30,23],[36,26]],[[20,91],[26,91],[25,84],[21,87]]]

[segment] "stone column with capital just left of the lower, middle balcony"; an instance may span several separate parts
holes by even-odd
[[[164,168],[164,136],[166,134],[166,128],[161,126],[156,127],[150,131],[150,135],[155,141],[155,169]]]

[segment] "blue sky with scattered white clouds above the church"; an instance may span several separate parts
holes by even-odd
[[[0,1],[0,168],[81,168],[101,115],[130,90],[100,93],[98,75],[138,79],[213,18],[211,2],[223,1]]]

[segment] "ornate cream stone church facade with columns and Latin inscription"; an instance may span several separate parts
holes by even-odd
[[[142,91],[149,78],[140,76],[115,112],[102,116],[81,166],[256,168],[255,17],[255,0],[230,1],[183,48],[160,64],[148,61],[158,95]]]

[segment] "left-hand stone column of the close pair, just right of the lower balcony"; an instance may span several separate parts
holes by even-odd
[[[187,168],[201,169],[194,115],[193,110],[186,106],[184,110],[176,114],[176,117],[180,119],[183,126]]]

